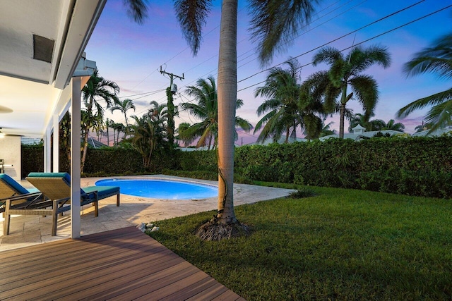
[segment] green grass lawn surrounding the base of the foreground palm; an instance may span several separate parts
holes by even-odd
[[[235,207],[248,237],[196,238],[213,211],[150,235],[246,300],[451,300],[451,200],[309,190]]]

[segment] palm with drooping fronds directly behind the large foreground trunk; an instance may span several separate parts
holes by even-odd
[[[200,122],[190,125],[184,131],[187,137],[193,140],[199,137],[196,147],[208,145],[208,149],[212,145],[218,144],[218,94],[215,85],[215,78],[209,76],[207,79],[199,79],[196,86],[189,86],[186,89],[189,96],[196,99],[196,104],[185,102],[181,104],[182,109],[189,111],[193,116],[201,119]],[[242,99],[237,99],[236,109],[243,105]],[[235,117],[234,125],[234,141],[238,139],[237,130],[235,127],[242,128],[242,130],[249,132],[253,126],[248,121]]]

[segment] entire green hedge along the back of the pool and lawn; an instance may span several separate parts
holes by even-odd
[[[42,147],[23,147],[24,175],[42,166],[39,158]],[[155,151],[148,171],[143,168],[141,155],[131,149],[89,149],[85,163],[85,173],[98,176],[163,170],[202,176],[215,173],[217,168],[215,151]],[[234,173],[236,180],[246,183],[261,180],[451,198],[452,137],[243,146],[235,150]]]

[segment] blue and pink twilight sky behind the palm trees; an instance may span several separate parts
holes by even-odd
[[[417,4],[418,2],[420,3]],[[100,75],[117,82],[121,88],[119,97],[133,99],[136,111],[129,111],[129,114],[137,116],[148,110],[150,101],[166,102],[165,88],[169,85],[169,78],[160,73],[160,66],[168,73],[184,73],[184,80],[174,81],[179,88],[174,100],[176,105],[192,101],[184,93],[186,86],[195,85],[198,78],[207,78],[208,75],[216,77],[218,66],[221,1],[214,1],[213,12],[203,31],[203,43],[197,56],[192,56],[187,47],[174,16],[172,1],[150,0],[149,3],[149,18],[144,25],[138,25],[127,16],[122,0],[108,0],[85,49],[87,58],[97,62]],[[416,5],[396,13],[413,4]],[[380,97],[373,118],[386,122],[395,118],[396,111],[406,104],[446,90],[451,85],[434,75],[406,78],[402,72],[403,64],[415,52],[428,47],[441,35],[451,32],[452,8],[434,13],[451,4],[452,0],[323,0],[311,24],[299,32],[299,36],[293,44],[287,46],[286,51],[275,54],[273,61],[262,68],[256,59],[255,45],[249,41],[246,1],[239,1],[237,80],[238,98],[244,100],[244,106],[237,111],[237,115],[246,118],[253,125],[260,119],[256,115],[256,109],[263,99],[255,98],[254,91],[256,87],[263,85],[259,82],[266,78],[267,72],[261,72],[262,70],[283,63],[289,57],[297,57],[299,63],[307,65],[301,71],[304,80],[311,73],[326,70],[326,65],[315,68],[309,65],[315,53],[313,49],[329,43],[328,46],[342,50],[370,39],[362,46],[376,44],[387,47],[392,60],[390,68],[374,66],[366,72],[379,84]],[[392,13],[396,14],[369,25]],[[427,16],[429,13],[434,14]],[[422,18],[424,16],[427,17]],[[418,18],[422,19],[417,20]],[[410,22],[413,23],[403,26]],[[366,25],[369,26],[358,30]],[[403,27],[393,30],[399,26]],[[355,30],[358,31],[350,34]],[[384,34],[389,30],[393,31]],[[343,35],[346,36],[338,39]],[[335,39],[335,42],[331,42]],[[347,51],[349,50],[345,50]],[[280,66],[287,68],[285,65]],[[354,100],[350,100],[347,106],[354,113],[362,113],[362,108]],[[416,111],[400,120],[405,124],[405,132],[414,133],[415,126],[422,123],[426,111]],[[124,116],[119,111],[106,115],[115,122],[125,123]],[[176,123],[181,122],[194,123],[196,119],[181,112]],[[326,123],[329,122],[333,122],[331,127],[338,130],[338,115],[328,118]],[[257,134],[254,135],[256,137],[253,137],[252,132],[250,134],[240,135],[244,144],[256,140]],[[239,144],[241,142],[239,140]]]

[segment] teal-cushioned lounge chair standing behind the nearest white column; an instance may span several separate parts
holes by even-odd
[[[71,177],[68,173],[30,173],[26,178],[35,188],[40,190],[49,201],[41,202],[39,206],[26,209],[14,209],[6,203],[4,233],[9,234],[11,214],[22,215],[50,215],[52,216],[52,236],[57,235],[58,214],[71,210]],[[81,188],[81,206],[93,204],[95,216],[99,215],[98,202],[106,197],[117,196],[119,206],[119,187],[90,186]],[[51,207],[50,209],[46,209]]]

